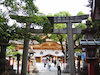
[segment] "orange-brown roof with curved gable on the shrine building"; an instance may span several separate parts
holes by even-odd
[[[56,42],[53,42],[53,41],[47,41],[47,42],[44,42],[42,44],[33,44],[33,45],[29,45],[29,49],[31,49],[31,47],[33,49],[41,49],[41,50],[62,50],[61,49],[61,45],[56,43]],[[17,49],[23,49],[23,45],[17,45],[16,47]]]

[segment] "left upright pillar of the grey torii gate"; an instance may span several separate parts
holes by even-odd
[[[26,36],[30,29],[30,23],[26,26]],[[24,39],[24,48],[23,48],[23,56],[22,56],[22,69],[21,75],[27,75],[27,60],[28,60],[28,46],[29,46],[29,38],[25,36]]]

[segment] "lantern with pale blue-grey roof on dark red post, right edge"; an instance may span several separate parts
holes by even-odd
[[[86,62],[88,63],[88,75],[95,75],[94,64],[97,63],[97,48],[100,40],[80,40],[80,45],[85,48]]]

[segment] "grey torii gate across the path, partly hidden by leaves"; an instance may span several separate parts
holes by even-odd
[[[54,23],[66,23],[67,29],[53,29],[52,33],[68,33],[68,54],[69,54],[69,66],[70,66],[70,75],[76,75],[75,69],[75,58],[74,58],[74,44],[73,44],[73,34],[81,33],[81,29],[72,29],[72,23],[80,23],[82,20],[87,19],[88,15],[82,16],[71,16],[71,17],[48,17],[51,25]],[[43,29],[30,29],[29,24],[27,24],[27,32],[33,33],[43,33]],[[28,45],[29,40],[24,39],[24,50],[23,50],[23,62],[22,63],[22,75],[27,73],[27,57],[28,57]]]

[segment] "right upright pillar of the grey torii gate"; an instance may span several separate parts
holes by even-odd
[[[76,75],[74,43],[73,43],[72,23],[71,22],[67,23],[67,30],[68,30],[68,56],[69,56],[70,75]]]

